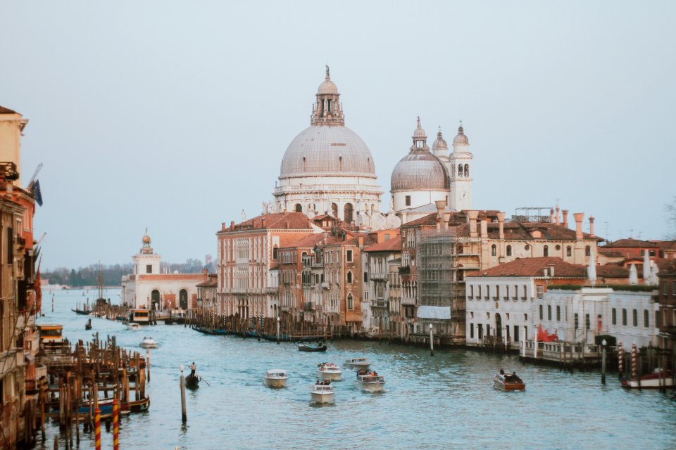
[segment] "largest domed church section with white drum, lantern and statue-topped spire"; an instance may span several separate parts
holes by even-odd
[[[328,67],[316,97],[310,127],[296,136],[282,158],[273,212],[303,212],[310,218],[331,214],[380,229],[385,219],[380,214],[382,190],[376,184],[373,156],[345,126],[340,94]]]

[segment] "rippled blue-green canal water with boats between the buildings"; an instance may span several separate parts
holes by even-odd
[[[84,293],[84,295],[83,295]],[[106,290],[113,303],[119,290]],[[517,356],[464,349],[436,350],[383,342],[329,342],[325,353],[299,352],[282,342],[202,335],[184,326],[146,326],[92,319],[70,309],[95,290],[43,293],[45,316],[58,322],[71,342],[115,335],[118,345],[140,349],[151,335],[151,396],[147,413],[120,420],[120,449],[673,449],[676,401],[672,394],[627,391],[617,376],[570,373],[522,366]],[[54,312],[51,312],[51,298]],[[142,350],[143,353],[144,350]],[[337,364],[366,356],[386,380],[382,393],[361,392],[354,374],[334,383],[335,403],[310,404],[310,387],[320,361]],[[180,365],[195,361],[204,383],[187,390],[187,423],[181,420]],[[492,375],[505,368],[525,381],[525,392],[500,392]],[[270,368],[289,372],[288,387],[265,387]],[[207,385],[208,383],[208,385]],[[103,428],[103,427],[102,427]],[[58,426],[48,425],[40,449],[52,449]],[[113,435],[102,430],[103,449]],[[93,449],[94,435],[81,435],[80,448]],[[61,440],[59,448],[65,448]]]

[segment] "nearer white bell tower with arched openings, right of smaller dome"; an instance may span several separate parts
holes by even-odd
[[[449,155],[448,169],[451,175],[449,207],[453,211],[472,209],[472,159],[470,140],[465,136],[461,122],[458,134],[453,138],[453,152]]]

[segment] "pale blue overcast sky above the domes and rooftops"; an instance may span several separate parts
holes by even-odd
[[[261,212],[329,64],[389,179],[415,117],[474,154],[473,206],[558,203],[613,240],[662,238],[676,195],[670,1],[12,1],[0,105],[30,120],[43,268],[216,253]],[[607,231],[606,231],[607,230]],[[606,234],[607,233],[607,234]]]

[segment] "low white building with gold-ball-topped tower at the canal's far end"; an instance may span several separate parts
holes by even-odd
[[[122,303],[137,309],[193,309],[197,284],[206,274],[161,274],[162,257],[151,248],[150,236],[143,236],[143,247],[132,257],[134,273],[122,277]]]

